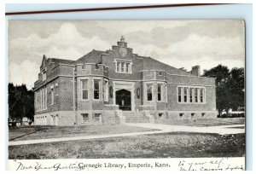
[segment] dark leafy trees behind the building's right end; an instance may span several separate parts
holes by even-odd
[[[244,68],[233,68],[218,65],[205,70],[203,76],[216,78],[216,107],[221,115],[230,108],[237,110],[244,107]]]

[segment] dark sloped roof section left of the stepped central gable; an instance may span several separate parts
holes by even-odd
[[[106,54],[106,52],[93,49],[88,54],[82,56],[81,58],[79,58],[79,60],[75,61],[74,63],[99,63],[102,61],[102,54]]]

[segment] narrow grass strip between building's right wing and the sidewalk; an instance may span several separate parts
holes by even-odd
[[[215,119],[181,119],[167,120],[163,124],[166,125],[187,125],[187,126],[218,126],[218,125],[244,125],[245,119],[237,118],[215,118]]]

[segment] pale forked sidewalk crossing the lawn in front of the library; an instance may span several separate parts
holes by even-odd
[[[211,126],[211,127],[161,125],[161,124],[148,124],[148,123],[125,124],[125,125],[151,128],[151,129],[156,129],[160,131],[143,131],[143,132],[108,134],[108,135],[98,135],[98,136],[74,136],[74,137],[60,137],[60,138],[38,139],[38,140],[15,141],[15,142],[9,142],[9,146],[18,146],[23,144],[38,144],[38,143],[45,143],[45,142],[67,142],[67,141],[75,141],[75,140],[91,140],[91,139],[101,139],[101,138],[119,137],[119,136],[140,136],[140,135],[160,134],[160,133],[168,133],[168,132],[198,132],[198,133],[215,133],[219,135],[240,134],[245,132],[245,129],[239,128],[245,125],[220,125],[220,126]]]

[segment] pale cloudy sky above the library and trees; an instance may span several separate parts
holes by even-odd
[[[245,66],[243,20],[11,20],[9,82],[32,89],[43,55],[75,61],[121,36],[133,53],[187,71]]]

